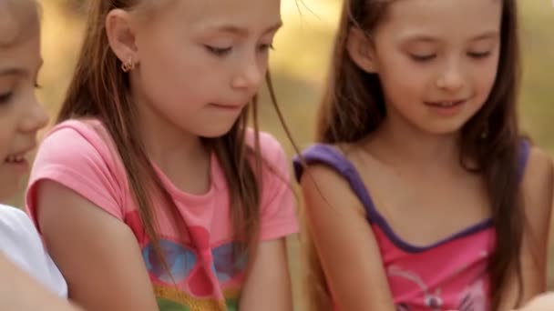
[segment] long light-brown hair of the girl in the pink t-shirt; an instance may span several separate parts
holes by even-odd
[[[156,5],[156,1],[151,2],[152,5]],[[132,10],[138,5],[141,5],[141,9],[143,5],[146,8],[155,8],[142,0],[89,2],[86,36],[57,122],[69,118],[93,117],[101,120],[106,126],[125,166],[145,233],[167,270],[168,266],[159,246],[156,215],[151,197],[161,195],[169,206],[165,212],[170,213],[173,219],[180,219],[180,216],[177,214],[177,206],[151,166],[139,133],[135,130],[139,128],[137,111],[129,98],[128,74],[120,69],[121,62],[108,45],[104,23],[112,9]],[[276,106],[269,74],[267,81],[273,104]],[[254,143],[251,145],[247,145],[246,142],[249,115],[254,129]],[[248,248],[248,254],[252,254],[259,236],[263,162],[258,137],[257,96],[244,109],[228,133],[217,138],[202,139],[217,156],[227,180],[234,239],[237,241],[238,250],[242,253]],[[186,230],[186,224],[174,225],[178,230]]]

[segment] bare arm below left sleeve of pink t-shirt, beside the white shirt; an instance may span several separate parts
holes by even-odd
[[[130,228],[65,186],[37,186],[38,222],[69,297],[89,311],[158,310]]]

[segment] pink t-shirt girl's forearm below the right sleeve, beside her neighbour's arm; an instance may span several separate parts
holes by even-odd
[[[241,311],[292,310],[285,239],[262,242],[241,296]]]

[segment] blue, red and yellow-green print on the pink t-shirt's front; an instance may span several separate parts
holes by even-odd
[[[238,310],[247,260],[245,255],[234,255],[233,242],[211,250],[207,246],[205,249],[210,252],[212,261],[201,260],[201,251],[167,239],[160,240],[159,247],[167,267],[156,256],[151,244],[143,248],[142,256],[160,311]]]

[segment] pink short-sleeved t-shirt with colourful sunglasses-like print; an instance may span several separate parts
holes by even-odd
[[[233,256],[228,189],[217,158],[211,157],[210,190],[201,196],[180,191],[155,167],[179,207],[178,213],[189,233],[178,234],[168,216],[157,213],[160,246],[171,272],[169,276],[144,235],[124,166],[108,137],[105,127],[96,120],[66,121],[49,132],[36,155],[26,195],[27,211],[36,226],[36,185],[43,179],[54,180],[132,229],[160,310],[237,310],[246,260],[244,256],[234,260],[237,257]],[[262,173],[263,241],[296,233],[298,224],[282,147],[264,133],[260,135],[260,143],[262,155],[272,166],[272,169],[266,166]],[[153,206],[164,204],[156,197],[152,199]]]

